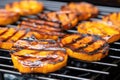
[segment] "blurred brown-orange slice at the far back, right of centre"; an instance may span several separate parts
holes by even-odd
[[[63,5],[61,10],[77,13],[80,21],[88,20],[91,17],[96,17],[99,12],[96,6],[86,2],[71,2],[67,5]]]

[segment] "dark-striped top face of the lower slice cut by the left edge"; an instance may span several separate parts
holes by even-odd
[[[25,37],[28,33],[28,29],[22,28],[1,28],[0,41],[2,42],[16,42],[17,40]]]

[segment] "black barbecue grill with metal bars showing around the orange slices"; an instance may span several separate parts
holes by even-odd
[[[9,0],[12,1],[12,0]],[[45,11],[56,11],[66,2],[42,1]],[[0,6],[3,7],[4,3]],[[97,6],[100,10],[96,18],[90,20],[100,20],[103,15],[111,12],[118,12],[120,8]],[[24,18],[34,18],[35,15],[21,17],[15,24],[8,25],[15,27]],[[68,32],[76,32],[69,30]],[[9,74],[9,75],[6,75]],[[15,76],[17,77],[15,77]],[[6,80],[5,76],[11,77],[8,80],[119,80],[120,79],[120,40],[110,44],[109,55],[98,62],[84,62],[69,58],[66,67],[49,74],[21,74],[13,67],[9,51],[0,49],[0,80]],[[22,78],[21,78],[22,77]],[[14,79],[12,79],[14,78]],[[24,78],[24,79],[23,79]],[[29,79],[30,78],[30,79]]]

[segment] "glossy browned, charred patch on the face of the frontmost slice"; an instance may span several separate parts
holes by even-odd
[[[34,52],[32,54],[13,54],[14,56],[19,57],[19,62],[21,62],[25,66],[35,67],[47,64],[55,64],[64,60],[64,55],[58,53],[59,51],[52,51],[52,53],[48,53],[45,56],[41,56],[41,52]]]

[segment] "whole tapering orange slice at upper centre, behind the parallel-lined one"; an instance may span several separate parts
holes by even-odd
[[[76,13],[71,11],[56,11],[56,12],[47,12],[38,15],[40,19],[52,21],[55,23],[60,23],[63,30],[68,30],[73,27],[78,22]]]

